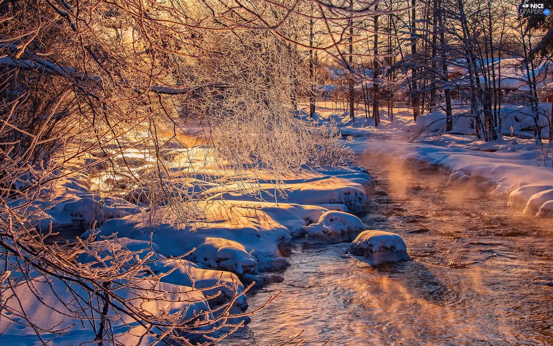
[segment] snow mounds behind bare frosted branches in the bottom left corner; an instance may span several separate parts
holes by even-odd
[[[17,297],[5,287],[2,304],[15,311],[24,311],[27,314],[27,318],[38,328],[64,332],[58,336],[45,332],[41,333],[41,337],[48,345],[90,343],[96,337],[98,328],[97,313],[93,313],[86,306],[79,306],[76,303],[74,294],[67,291],[66,284],[66,282],[56,277],[35,276],[33,285],[22,283],[14,288],[15,292],[17,292]],[[85,291],[77,285],[71,285],[71,287],[81,299],[90,299],[92,304],[100,304],[102,306],[103,303],[97,301],[97,295],[91,295],[90,292]],[[144,314],[155,316],[155,314],[167,311],[174,313],[175,316],[181,316],[179,318],[180,321],[186,321],[195,316],[202,318],[203,313],[209,309],[205,296],[201,291],[173,283],[146,280],[133,283],[133,285],[126,288],[120,288],[116,290],[116,293],[123,299],[126,299],[126,304],[139,307]],[[119,307],[121,307],[120,303],[114,303],[119,304]],[[75,318],[76,313],[82,316],[82,308],[93,319],[81,320]],[[124,313],[120,314],[119,318],[116,318],[116,312],[112,309],[110,309],[108,314],[112,319],[112,330],[118,344],[134,345],[139,342],[140,336],[145,332],[145,328],[141,324]],[[91,321],[96,323],[96,328],[92,328]],[[3,317],[0,319],[0,329],[2,330],[0,343],[3,345],[28,346],[44,344],[36,335],[36,330],[28,326],[21,317]],[[159,330],[155,331],[159,333]],[[143,339],[144,343],[141,344],[152,344],[155,340],[155,335],[147,335]]]

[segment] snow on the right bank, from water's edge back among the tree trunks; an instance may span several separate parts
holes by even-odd
[[[540,107],[549,113],[551,104],[542,103]],[[445,117],[443,110],[425,113],[415,122],[408,109],[399,112],[394,109],[394,119],[390,121],[387,107],[383,105],[382,108],[382,123],[377,128],[374,128],[372,118],[365,118],[364,112],[359,112],[356,121],[352,122],[349,113],[317,107],[313,119],[304,118],[321,125],[331,120],[340,123],[343,135],[354,137],[349,143],[353,151],[367,159],[376,159],[377,163],[379,159],[387,159],[415,167],[440,169],[451,174],[448,185],[473,186],[498,196],[510,195],[510,200],[515,202],[509,205],[525,209],[527,214],[553,214],[550,213],[551,203],[547,203],[553,197],[546,193],[536,195],[526,208],[533,195],[553,188],[553,148],[547,140],[541,145],[535,144],[531,130],[534,120],[529,115],[529,106],[503,105],[501,132],[504,136],[490,142],[477,140],[468,117],[458,118],[452,131],[436,136],[436,131],[440,131],[445,123],[445,120],[440,120]],[[460,102],[455,101],[453,111],[454,114],[466,112],[467,106],[461,107]],[[540,121],[547,122],[545,117],[541,118]],[[427,132],[415,138],[422,126],[431,123]],[[531,139],[510,137],[511,133]],[[547,138],[548,133],[549,127],[544,127],[542,136]],[[538,202],[541,204],[534,205]]]

